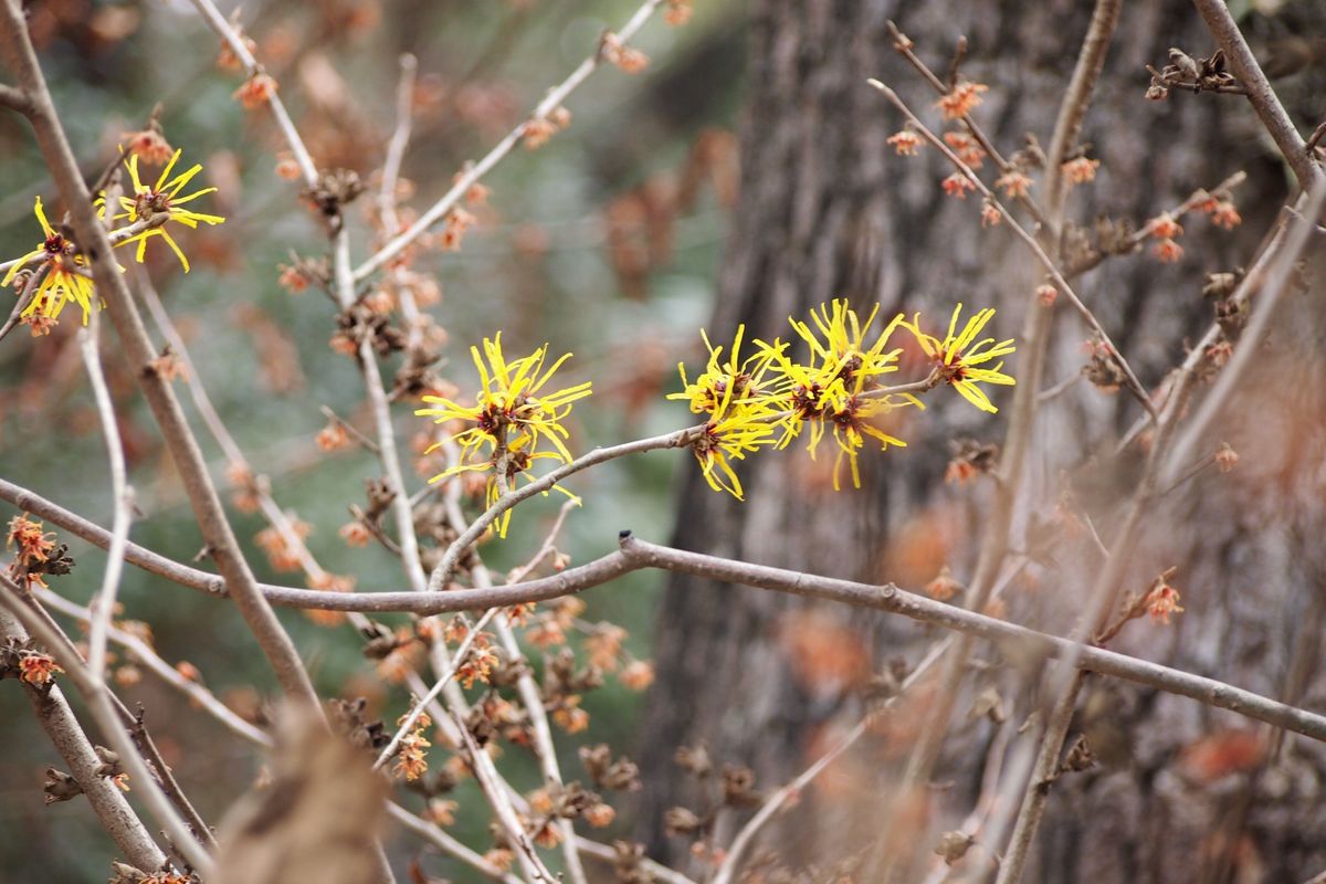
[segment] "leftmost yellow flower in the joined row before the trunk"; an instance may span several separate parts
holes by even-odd
[[[686,364],[678,364],[684,390],[668,394],[668,399],[688,402],[692,412],[709,416],[700,437],[691,443],[691,451],[709,488],[743,500],[741,480],[732,461],[777,441],[774,428],[777,420],[785,416],[785,403],[766,390],[766,376],[785,345],[761,343],[758,353],[741,359],[741,339],[745,335],[745,326],[741,325],[724,362],[723,347],[709,343],[704,331],[700,335],[709,350],[709,362],[693,382],[687,380]]]

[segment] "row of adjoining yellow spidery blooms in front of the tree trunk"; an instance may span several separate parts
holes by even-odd
[[[821,305],[810,311],[809,322],[789,319],[801,342],[809,349],[805,360],[789,355],[790,345],[754,342],[754,353],[741,358],[745,327],[737,329],[731,354],[715,347],[704,337],[709,360],[703,374],[690,380],[686,366],[679,366],[680,399],[691,411],[707,416],[700,437],[691,449],[711,488],[743,497],[741,481],[732,461],[764,447],[786,448],[805,433],[808,449],[815,455],[819,443],[830,435],[837,447],[834,488],[846,464],[853,485],[861,488],[858,455],[866,439],[890,445],[906,445],[879,427],[882,417],[899,408],[924,408],[914,394],[952,384],[972,404],[994,412],[996,407],[980,384],[1012,384],[1002,372],[1002,362],[983,366],[1013,353],[1012,341],[993,338],[977,341],[994,310],[981,310],[959,329],[961,305],[953,311],[947,335],[940,339],[922,331],[919,314],[908,322],[903,314],[882,330],[873,331],[879,306],[865,321],[845,300]],[[915,384],[888,387],[883,378],[898,371],[902,347],[890,347],[892,335],[910,333],[932,362],[927,379]]]

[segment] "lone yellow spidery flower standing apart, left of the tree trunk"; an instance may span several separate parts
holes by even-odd
[[[496,470],[505,459],[505,484],[511,486],[518,476],[528,474],[533,461],[542,459],[569,463],[570,452],[565,440],[569,437],[562,421],[572,412],[573,403],[589,396],[590,382],[574,384],[565,390],[546,390],[553,374],[570,359],[566,354],[545,368],[548,345],[520,359],[508,360],[501,349],[501,333],[492,339],[484,338],[483,353],[479,347],[469,349],[475,367],[479,370],[481,390],[473,406],[463,406],[443,396],[424,396],[435,408],[419,408],[420,416],[431,416],[435,423],[460,420],[473,424],[455,433],[451,441],[460,445],[460,457],[455,465],[434,476],[430,482],[438,482],[450,476],[467,472],[492,472],[488,478],[487,498],[491,506],[501,496],[501,484]],[[538,451],[541,443],[548,443],[552,451]],[[430,448],[436,449],[438,445]],[[554,486],[572,500],[574,494]],[[507,510],[497,524],[497,533],[507,535],[511,510]]]

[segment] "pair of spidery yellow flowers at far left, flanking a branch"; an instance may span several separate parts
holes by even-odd
[[[131,243],[137,244],[135,258],[142,262],[147,241],[152,237],[160,237],[179,257],[187,273],[188,258],[184,257],[184,252],[166,229],[166,224],[175,221],[188,228],[196,228],[200,223],[221,224],[225,219],[217,215],[203,215],[202,212],[180,208],[184,203],[211,193],[216,188],[204,187],[180,196],[180,191],[184,190],[203,167],[195,163],[188,171],[171,178],[170,174],[175,168],[179,156],[180,151],[175,151],[156,182],[147,186],[139,178],[138,155],[130,155],[125,162],[125,167],[129,170],[133,196],[121,196],[118,199],[119,211],[110,215],[110,221],[113,227],[117,221],[125,221],[126,224],[135,221],[154,223],[151,227],[145,227],[145,229],[119,240],[115,243],[115,247]],[[98,215],[105,219],[105,193],[97,196],[95,205]],[[40,196],[36,200],[33,211],[37,221],[41,224],[41,232],[45,239],[36,249],[9,262],[9,272],[0,280],[0,285],[7,286],[12,284],[23,269],[30,269],[33,273],[41,274],[32,293],[32,300],[23,310],[23,318],[32,326],[33,335],[49,334],[50,329],[60,321],[60,314],[65,309],[65,305],[70,301],[82,307],[82,321],[84,325],[88,325],[88,318],[91,315],[95,304],[88,261],[82,254],[77,253],[74,244],[46,220]]]

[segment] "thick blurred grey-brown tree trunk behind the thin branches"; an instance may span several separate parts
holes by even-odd
[[[965,34],[971,53],[963,70],[991,86],[975,115],[1001,151],[1021,147],[1029,131],[1048,142],[1090,7],[756,0],[743,191],[711,338],[731,342],[741,322],[748,341],[786,338],[789,314],[804,315],[834,297],[847,297],[858,307],[878,301],[884,317],[919,309],[939,329],[957,301],[972,309],[997,305],[992,334],[1018,334],[1028,293],[1040,282],[1034,261],[1005,228],[981,229],[979,203],[941,195],[939,180],[951,170],[935,151],[911,159],[892,155],[884,139],[900,121],[865,81],[884,80],[937,126],[931,107],[937,95],[894,50],[886,23],[896,19],[940,77],[947,76],[957,36]],[[1307,12],[1321,17],[1319,11]],[[1078,290],[1146,384],[1158,383],[1181,358],[1177,342],[1209,322],[1209,304],[1197,293],[1201,272],[1246,262],[1286,196],[1280,164],[1241,99],[1187,94],[1167,102],[1143,99],[1148,80],[1143,65],[1160,66],[1170,46],[1209,54],[1211,38],[1189,5],[1124,4],[1083,130],[1083,139],[1094,143],[1091,155],[1103,160],[1101,176],[1094,187],[1070,195],[1069,216],[1086,225],[1098,213],[1142,221],[1193,188],[1215,186],[1244,168],[1250,179],[1238,201],[1248,223],[1228,235],[1207,221],[1185,221],[1188,257],[1177,266],[1139,254],[1111,260],[1083,278]],[[1048,384],[1081,368],[1078,345],[1085,338],[1074,317],[1059,315]],[[1010,368],[1016,375],[1016,358]],[[953,395],[931,400],[924,415],[900,428],[908,448],[862,457],[859,492],[834,493],[831,456],[813,463],[801,452],[753,459],[743,474],[745,502],[713,493],[692,470],[682,490],[674,542],[794,570],[888,579],[908,588],[924,586],[945,563],[960,580],[969,577],[989,488],[944,486],[948,440],[998,441],[1004,415],[977,414]],[[1006,406],[1010,396],[997,402]],[[1028,480],[1036,500],[1053,505],[1059,470],[1082,464],[1089,447],[1116,437],[1136,412],[1135,403],[1086,383],[1061,396],[1037,424]],[[1293,457],[1303,456],[1303,451],[1286,455],[1286,463],[1302,463]],[[1127,472],[1078,480],[1079,497],[1083,488],[1082,505],[1109,537],[1110,504],[1131,490]],[[1228,489],[1193,494],[1174,501],[1179,508],[1174,517],[1184,529],[1192,508],[1228,514],[1242,505]],[[1041,513],[1050,516],[1049,508]],[[1258,569],[1268,562],[1254,550],[1266,533],[1284,533],[1288,517],[1266,518],[1270,522],[1257,524],[1260,534],[1224,516],[1195,531],[1167,525],[1162,549],[1139,555],[1134,577],[1144,586],[1162,567],[1181,563],[1181,579],[1189,580],[1188,612],[1150,648],[1124,649],[1270,694],[1282,693],[1286,672],[1297,667],[1302,689],[1310,691],[1311,679],[1303,673],[1315,671],[1315,643],[1299,635],[1298,623],[1305,610],[1318,611],[1310,599],[1322,591],[1321,571],[1281,569],[1274,580],[1258,583],[1266,578]],[[1284,541],[1289,547],[1277,547],[1280,554],[1306,557],[1302,538],[1296,545],[1293,533],[1289,537]],[[1079,562],[1041,574],[1042,582],[1055,583],[1054,591],[1042,588],[1036,600],[1028,600],[1028,592],[1010,599],[1009,616],[1067,632],[1078,590],[1059,591],[1058,584],[1079,586],[1097,563],[1089,547],[1081,553]],[[1191,562],[1203,565],[1189,567]],[[1199,586],[1199,577],[1207,583]],[[1249,598],[1249,586],[1262,595]],[[1242,595],[1237,587],[1244,587]],[[664,811],[686,804],[703,812],[711,801],[704,795],[715,789],[712,782],[700,789],[678,771],[672,758],[678,746],[703,742],[716,765],[749,766],[760,787],[773,789],[859,720],[871,673],[899,657],[915,664],[935,637],[910,622],[688,577],[671,578],[659,623],[658,681],[639,753],[651,789],[639,824],[652,851],[672,861],[683,861],[688,843],[663,836]],[[979,655],[994,659],[993,649]],[[977,673],[971,681],[972,691],[983,685],[1004,691],[1013,726],[1037,700],[1002,675]],[[1101,684],[1093,696],[1118,722],[1114,742],[1122,749],[1102,745],[1095,771],[1055,786],[1026,880],[1261,880],[1240,876],[1249,869],[1264,871],[1266,880],[1302,880],[1326,867],[1326,815],[1311,811],[1313,790],[1326,770],[1319,746],[1290,741],[1297,749],[1288,754],[1297,751],[1309,763],[1282,767],[1306,779],[1281,777],[1274,795],[1265,767],[1213,795],[1168,773],[1171,762],[1203,734],[1245,722],[1131,687]],[[1321,698],[1319,685],[1315,696]],[[937,799],[930,828],[906,835],[912,840],[903,848],[924,863],[920,869],[928,867],[934,843],[926,839],[956,827],[971,811],[997,730],[987,720],[964,721],[965,709],[959,706],[936,773],[952,789]],[[906,742],[899,730],[906,728],[865,741],[870,745],[863,753],[839,762],[839,775],[826,774],[782,823],[770,827],[764,847],[776,843],[782,861],[825,869],[878,838],[880,828],[896,827],[898,820],[876,814],[880,781],[891,775],[890,762],[906,754],[906,745],[900,753],[892,745]],[[724,846],[747,818],[720,815],[717,844]]]

